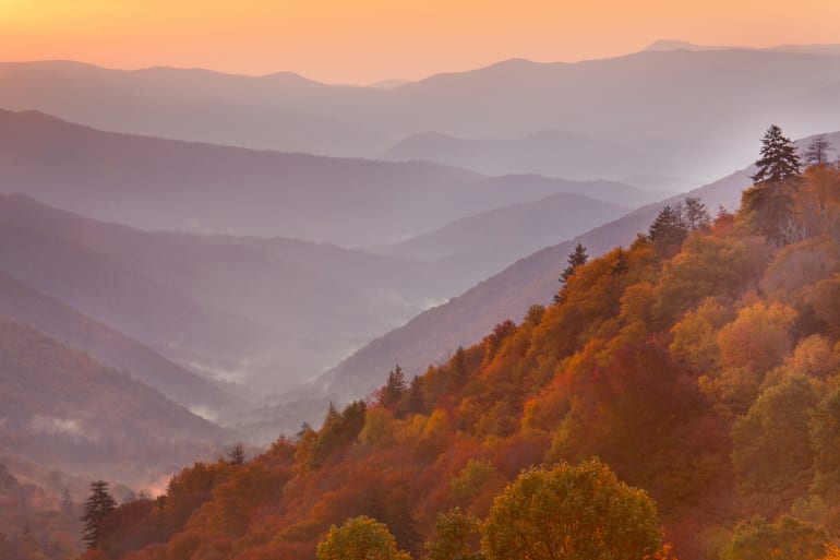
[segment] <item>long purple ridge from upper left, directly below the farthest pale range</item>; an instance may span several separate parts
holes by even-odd
[[[398,242],[556,192],[634,206],[649,201],[649,194],[622,184],[487,178],[427,163],[166,141],[11,111],[0,111],[0,181],[5,192],[145,229],[283,236],[343,247]]]

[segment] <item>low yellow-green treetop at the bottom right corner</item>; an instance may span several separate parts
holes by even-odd
[[[828,536],[821,528],[783,516],[768,523],[756,516],[740,523],[723,549],[721,560],[817,560],[828,549]]]

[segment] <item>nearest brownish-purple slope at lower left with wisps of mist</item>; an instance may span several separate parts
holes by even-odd
[[[128,374],[1,318],[0,384],[0,452],[88,476],[148,480],[226,437]]]

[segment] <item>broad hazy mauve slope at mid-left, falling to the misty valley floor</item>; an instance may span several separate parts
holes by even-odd
[[[307,250],[285,251],[298,242],[151,234],[21,195],[0,196],[0,271],[206,377],[239,389],[248,379],[256,394],[328,367],[418,309],[379,301],[387,283],[364,293],[369,276],[352,272],[410,274],[399,259],[321,249],[327,258],[312,251],[307,270],[281,258],[304,263]]]

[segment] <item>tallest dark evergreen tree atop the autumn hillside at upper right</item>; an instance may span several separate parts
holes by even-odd
[[[758,170],[752,177],[754,186],[744,191],[741,212],[755,228],[773,241],[784,245],[796,240],[796,221],[793,215],[793,187],[799,180],[802,163],[796,147],[776,124],[761,139]]]

